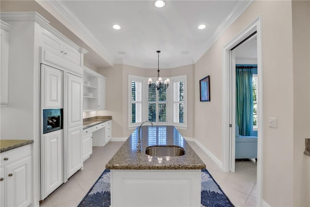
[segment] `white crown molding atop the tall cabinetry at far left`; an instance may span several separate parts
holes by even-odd
[[[3,21],[36,21],[40,25],[49,24],[49,21],[37,12],[1,12],[0,19]]]

